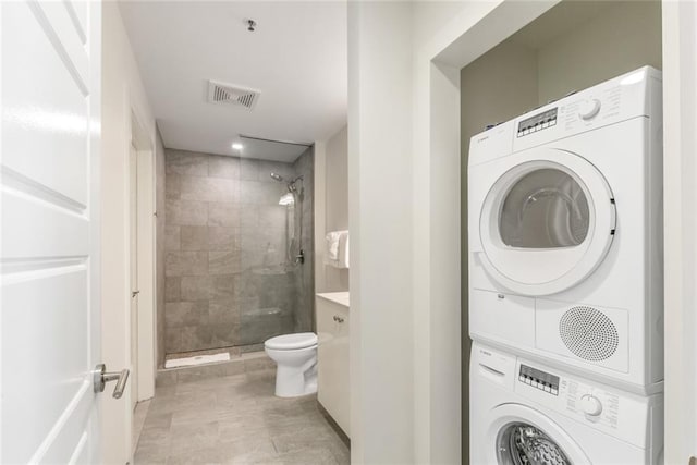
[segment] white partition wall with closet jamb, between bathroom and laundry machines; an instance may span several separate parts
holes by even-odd
[[[461,461],[460,69],[553,3],[350,3],[355,463]]]

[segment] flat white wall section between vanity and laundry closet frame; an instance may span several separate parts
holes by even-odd
[[[351,460],[414,462],[412,5],[348,3]]]

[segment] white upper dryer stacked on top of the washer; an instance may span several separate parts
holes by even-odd
[[[661,105],[646,66],[472,138],[473,340],[662,389]]]

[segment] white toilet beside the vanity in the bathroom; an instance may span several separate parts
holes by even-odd
[[[317,334],[299,332],[271,338],[264,343],[276,362],[276,395],[296,397],[317,392]]]

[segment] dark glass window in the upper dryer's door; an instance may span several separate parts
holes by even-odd
[[[542,168],[510,188],[499,232],[510,247],[573,247],[585,241],[589,219],[588,200],[578,183],[561,170]]]

